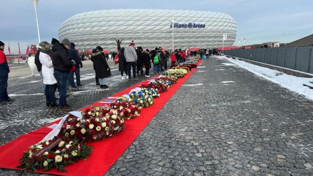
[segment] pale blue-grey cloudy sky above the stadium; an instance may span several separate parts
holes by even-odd
[[[8,43],[11,53],[25,53],[27,44],[37,44],[35,12],[31,0],[1,0],[0,40]],[[42,41],[58,38],[64,20],[81,12],[117,9],[177,9],[227,13],[237,23],[233,45],[259,44],[269,41],[289,43],[312,34],[312,0],[39,0],[38,22]],[[151,12],[153,13],[153,11]]]

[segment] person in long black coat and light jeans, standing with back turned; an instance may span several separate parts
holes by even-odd
[[[106,80],[107,77],[111,76],[111,71],[108,63],[98,49],[92,50],[91,58],[94,62],[96,76],[99,78],[100,88],[108,88],[109,86],[106,85]]]

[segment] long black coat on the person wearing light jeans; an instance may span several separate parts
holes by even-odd
[[[91,60],[94,63],[94,69],[97,78],[107,78],[111,76],[110,67],[101,52],[93,53],[91,55]]]

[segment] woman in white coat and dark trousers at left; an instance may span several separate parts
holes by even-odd
[[[39,61],[42,64],[42,76],[44,78],[44,84],[46,85],[45,88],[45,95],[46,95],[46,105],[51,107],[56,107],[55,101],[55,90],[57,81],[53,75],[53,65],[51,60],[51,48],[48,42],[40,42],[38,45],[38,49],[40,50],[39,54]]]

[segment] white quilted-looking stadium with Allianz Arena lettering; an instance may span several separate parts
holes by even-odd
[[[175,22],[172,24],[172,20]],[[92,50],[101,46],[116,51],[116,39],[121,47],[131,43],[153,49],[161,46],[172,50],[182,48],[217,48],[232,46],[236,38],[236,22],[225,13],[155,10],[112,9],[79,13],[65,20],[59,28],[59,40],[69,39],[77,48]]]

